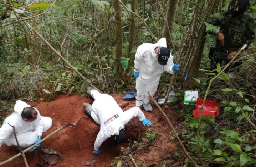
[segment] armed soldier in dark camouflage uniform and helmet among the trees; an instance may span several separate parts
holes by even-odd
[[[217,36],[216,47],[211,48],[209,52],[211,70],[216,69],[218,63],[220,63],[221,67],[229,63],[244,44],[247,45],[245,48],[247,49],[254,41],[255,20],[251,15],[245,13],[249,7],[249,0],[232,0],[228,6],[228,11],[220,13],[220,17],[218,18],[210,18],[209,24],[220,26],[220,32],[215,30],[208,32],[209,34]],[[228,35],[224,33],[226,32],[225,29],[228,29]],[[241,64],[241,60],[232,63],[232,65],[227,68],[227,71],[230,72]]]

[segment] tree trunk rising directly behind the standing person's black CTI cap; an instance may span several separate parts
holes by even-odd
[[[177,6],[178,6],[178,0],[170,0],[169,4],[168,4],[168,11],[167,11],[167,23],[165,24],[165,28],[164,28],[164,37],[166,38],[166,42],[167,42],[167,48],[171,48],[173,41],[172,41],[172,37],[170,37],[169,35],[169,30],[167,28],[167,26],[170,29],[170,33],[172,34],[173,32],[173,24],[175,21],[175,15],[176,15],[176,11],[177,11]]]

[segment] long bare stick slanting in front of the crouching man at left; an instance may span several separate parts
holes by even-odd
[[[71,125],[72,127],[73,127],[73,126],[76,126],[76,125],[80,122],[81,118],[82,118],[82,117],[78,118],[75,123],[68,123],[68,124],[66,124],[66,125],[64,125],[64,126],[62,126],[62,127],[60,127],[60,128],[58,128],[58,129],[56,129],[54,132],[52,132],[51,134],[49,134],[48,136],[46,136],[45,138],[43,138],[43,139],[40,140],[39,142],[37,142],[37,143],[33,144],[32,146],[28,147],[28,148],[27,148],[26,150],[24,150],[23,152],[25,153],[25,152],[31,150],[32,148],[35,147],[35,145],[42,143],[42,142],[45,141],[46,139],[50,138],[53,134],[57,133],[58,131],[60,131],[61,129],[63,129],[63,128],[69,126],[69,125]],[[1,166],[1,165],[4,165],[4,164],[7,163],[7,162],[10,162],[11,160],[13,160],[13,159],[19,157],[20,155],[21,155],[21,153],[16,154],[15,156],[9,158],[8,160],[5,160],[4,162],[1,162],[1,163],[0,163],[0,166]]]

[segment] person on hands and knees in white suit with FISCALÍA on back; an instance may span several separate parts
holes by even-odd
[[[122,143],[126,138],[124,125],[133,117],[137,116],[144,126],[152,124],[138,107],[123,112],[112,96],[101,94],[92,87],[88,87],[87,92],[92,96],[94,102],[92,105],[83,103],[83,108],[101,126],[94,143],[94,154],[99,154],[99,147],[111,136],[114,136],[116,144]]]

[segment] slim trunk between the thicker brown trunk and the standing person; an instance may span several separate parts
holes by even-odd
[[[134,7],[134,1],[132,0],[132,4],[131,4],[131,7],[132,7],[132,11],[135,12],[135,7]],[[132,51],[132,48],[133,48],[133,37],[134,37],[134,16],[133,15],[130,15],[130,30],[129,30],[129,46],[128,46],[128,51],[127,51],[127,58],[131,58],[131,54],[130,52]],[[130,60],[130,62],[133,62],[133,60]],[[127,82],[128,80],[130,80],[130,77],[128,76],[128,73],[130,72],[130,63],[128,64],[128,68],[126,69],[126,72],[124,74],[124,82]]]

